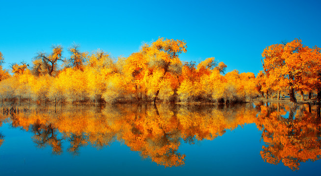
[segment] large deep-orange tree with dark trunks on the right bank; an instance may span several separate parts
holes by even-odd
[[[320,87],[320,68],[315,66],[320,64],[321,58],[318,47],[311,49],[295,39],[287,44],[266,47],[262,57],[267,88],[288,89],[291,102],[297,102],[295,90],[301,92],[301,99],[304,100],[303,91],[311,92]]]

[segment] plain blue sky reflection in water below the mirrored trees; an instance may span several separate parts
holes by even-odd
[[[160,112],[162,113],[162,112]],[[291,171],[282,162],[272,165],[260,155],[262,132],[256,124],[226,130],[214,140],[195,141],[190,145],[181,140],[178,152],[185,154],[185,165],[158,166],[150,158],[142,159],[117,140],[97,150],[87,145],[79,155],[66,152],[69,141],[63,141],[63,153],[52,154],[51,147],[39,149],[31,139],[33,133],[12,128],[3,123],[0,132],[4,142],[0,147],[1,175],[318,175],[321,161],[301,162],[299,171]]]

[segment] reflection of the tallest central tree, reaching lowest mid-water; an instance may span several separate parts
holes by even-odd
[[[159,112],[156,105],[142,106],[133,110],[124,122],[122,139],[131,150],[141,152],[143,158],[150,157],[153,162],[166,167],[180,166],[185,155],[177,152],[180,145],[178,120],[174,113],[163,108]]]

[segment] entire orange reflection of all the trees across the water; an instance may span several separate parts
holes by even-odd
[[[300,162],[321,155],[320,106],[311,105],[17,107],[4,108],[2,122],[32,132],[36,146],[50,147],[53,154],[62,154],[67,147],[77,155],[83,146],[101,149],[117,140],[166,167],[184,165],[185,154],[178,152],[181,142],[213,140],[249,123],[262,130],[260,154],[268,163],[281,161],[297,170]],[[3,138],[0,133],[0,145]]]

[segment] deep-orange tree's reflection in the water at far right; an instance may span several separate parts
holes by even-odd
[[[310,105],[297,108],[273,104],[260,108],[257,125],[263,130],[264,161],[271,164],[282,161],[290,169],[299,170],[300,162],[320,159],[320,106],[311,109]]]

